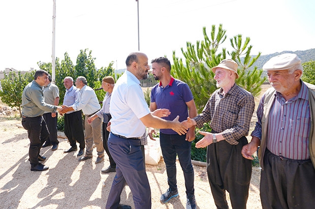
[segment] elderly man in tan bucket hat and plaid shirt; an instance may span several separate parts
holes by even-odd
[[[201,114],[183,123],[187,128],[203,127],[210,122],[211,133],[199,132],[205,137],[197,148],[207,147],[207,174],[217,208],[229,208],[226,191],[230,193],[234,209],[245,209],[251,177],[251,161],[241,155],[246,145],[251,116],[255,108],[253,95],[236,85],[237,63],[222,60],[212,68],[219,87],[208,100]]]

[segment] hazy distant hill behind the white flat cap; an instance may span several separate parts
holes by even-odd
[[[315,60],[315,49],[309,49],[309,50],[305,50],[305,51],[283,51],[283,52],[276,52],[273,54],[269,54],[269,55],[261,55],[257,61],[255,62],[255,66],[258,67],[258,69],[262,69],[263,65],[270,60],[270,58],[281,55],[281,54],[285,54],[285,53],[293,53],[296,54],[302,61],[302,63],[304,62],[308,62],[310,60]],[[256,55],[253,55],[252,57],[255,57]],[[242,60],[242,59],[241,59]],[[252,67],[252,69],[254,69],[254,67]]]

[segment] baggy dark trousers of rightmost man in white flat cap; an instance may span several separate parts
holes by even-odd
[[[315,207],[315,170],[310,159],[293,160],[266,149],[260,178],[264,209]]]

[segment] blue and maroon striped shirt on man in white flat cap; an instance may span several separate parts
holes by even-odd
[[[278,92],[271,106],[268,119],[267,149],[277,156],[295,160],[309,159],[308,135],[310,111],[307,87],[302,82],[299,94],[286,101]],[[258,122],[251,136],[261,139],[261,118],[264,111],[262,97],[257,109]]]

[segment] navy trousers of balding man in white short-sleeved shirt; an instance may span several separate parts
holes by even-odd
[[[140,139],[123,139],[109,134],[108,149],[116,162],[116,176],[110,189],[106,209],[117,209],[122,189],[128,183],[136,209],[151,208],[151,189],[145,172]]]

